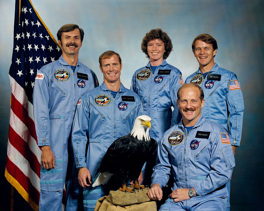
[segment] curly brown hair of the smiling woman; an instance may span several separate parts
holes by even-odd
[[[141,43],[141,50],[149,58],[148,49],[147,49],[148,48],[148,42],[151,40],[155,40],[155,39],[161,39],[164,42],[165,52],[163,54],[163,59],[167,59],[169,54],[172,51],[173,46],[172,46],[172,42],[171,42],[171,39],[169,38],[169,36],[167,35],[166,32],[162,31],[161,28],[152,29],[148,33],[146,33],[146,36],[143,37],[143,40]]]

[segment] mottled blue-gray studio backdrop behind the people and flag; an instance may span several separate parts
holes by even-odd
[[[264,1],[70,1],[31,0],[36,11],[56,38],[66,23],[84,30],[79,53],[82,63],[103,81],[98,57],[106,50],[121,55],[121,81],[130,87],[134,71],[148,62],[140,50],[144,35],[153,28],[166,31],[173,43],[167,62],[181,70],[183,79],[198,69],[192,40],[209,33],[218,42],[215,62],[237,74],[245,111],[241,147],[231,180],[231,210],[263,210],[263,53]],[[11,88],[8,71],[13,48],[15,1],[0,1],[0,210],[9,209],[10,185],[4,178]],[[31,210],[15,191],[14,210]]]

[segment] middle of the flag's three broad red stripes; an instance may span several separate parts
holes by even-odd
[[[29,145],[13,130],[9,125],[9,142],[13,147],[17,149],[20,154],[27,159],[30,168],[36,173],[40,178],[40,163],[34,153],[29,148]]]

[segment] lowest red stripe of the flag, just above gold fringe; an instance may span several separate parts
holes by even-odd
[[[6,159],[6,169],[30,195],[30,198],[36,204],[39,204],[39,191],[31,184],[30,179],[8,158],[8,156]]]

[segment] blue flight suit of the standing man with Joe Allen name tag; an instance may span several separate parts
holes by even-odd
[[[224,126],[229,134],[231,144],[240,145],[244,103],[243,95],[237,80],[237,76],[223,68],[217,63],[203,77],[200,68],[188,76],[185,83],[195,83],[204,91],[205,104],[202,108],[202,116],[213,122]],[[230,127],[228,127],[227,119],[229,116]],[[227,184],[230,195],[230,182]],[[227,210],[230,208],[228,197]]]

